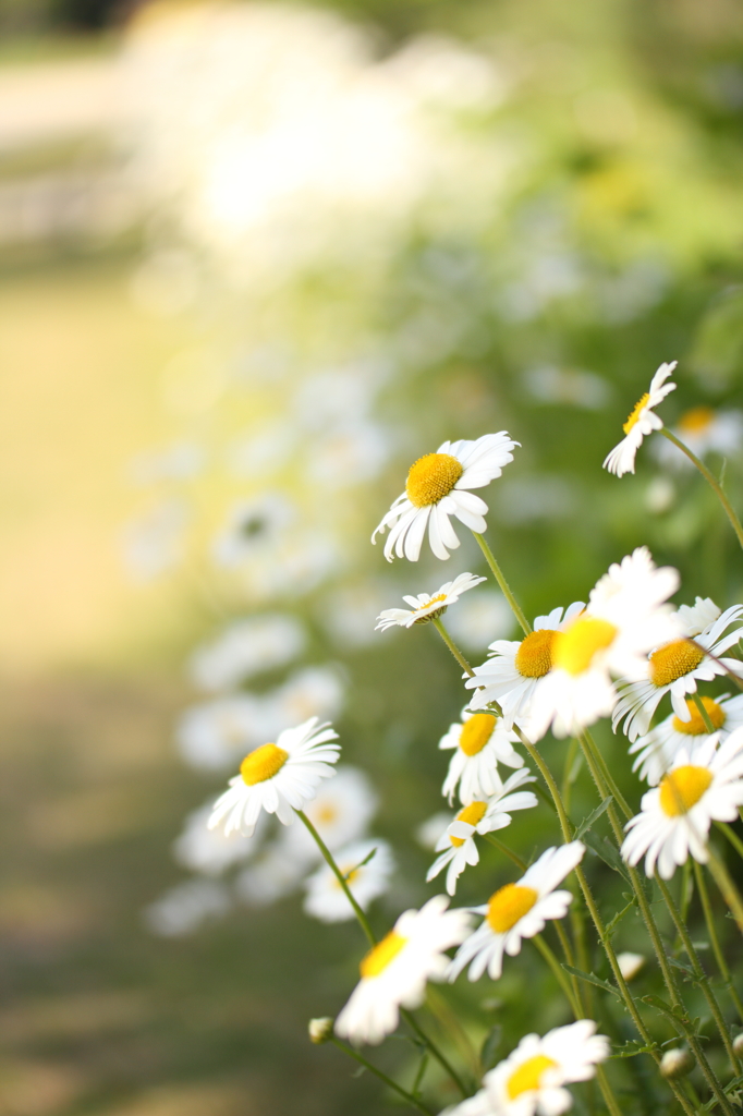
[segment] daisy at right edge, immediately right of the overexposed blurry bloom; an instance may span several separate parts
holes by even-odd
[[[693,612],[693,627],[696,627],[698,613],[698,608]],[[684,699],[686,694],[696,693],[697,681],[711,682],[716,675],[725,674],[725,666],[735,674],[743,675],[743,663],[740,660],[721,658],[743,634],[735,628],[723,635],[731,624],[743,617],[743,605],[733,605],[725,609],[717,619],[694,636],[694,643],[689,643],[686,638],[691,633],[681,627],[683,618],[679,613],[676,613],[676,616],[681,637],[656,645],[655,651],[648,656],[645,679],[628,682],[621,687],[611,720],[615,732],[621,722],[625,722],[624,732],[630,740],[636,740],[640,733],[647,732],[653,714],[665,694],[670,694],[670,703],[679,721],[688,721],[692,714]],[[724,665],[715,663],[702,648],[721,658]]]

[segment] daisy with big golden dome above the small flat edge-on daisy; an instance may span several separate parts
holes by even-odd
[[[387,561],[392,561],[395,554],[398,558],[405,556],[417,561],[427,525],[428,541],[436,558],[448,558],[448,550],[460,545],[450,516],[455,516],[479,535],[485,530],[483,516],[488,504],[470,490],[484,488],[500,477],[503,466],[513,461],[511,450],[517,445],[519,443],[502,430],[498,434],[484,434],[475,442],[444,442],[435,453],[418,458],[411,465],[405,491],[397,497],[372,541],[390,528],[385,543]]]

